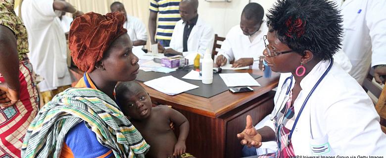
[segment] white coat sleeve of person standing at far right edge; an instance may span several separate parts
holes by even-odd
[[[368,0],[366,25],[372,45],[371,66],[386,64],[386,0]],[[362,40],[362,39],[357,39]]]

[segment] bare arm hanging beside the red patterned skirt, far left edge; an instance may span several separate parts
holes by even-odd
[[[3,94],[0,104],[9,102],[2,106],[10,106],[19,100],[19,58],[15,35],[3,25],[0,25],[0,48],[0,73],[5,80],[0,84],[0,93]]]

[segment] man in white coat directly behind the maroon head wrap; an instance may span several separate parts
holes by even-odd
[[[123,24],[123,27],[127,30],[127,34],[129,34],[130,40],[133,41],[133,45],[146,45],[147,32],[145,24],[139,18],[130,16],[126,12],[125,6],[119,1],[111,3],[110,9],[111,12],[120,12],[126,17],[126,21]]]

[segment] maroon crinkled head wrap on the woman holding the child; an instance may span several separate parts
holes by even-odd
[[[79,69],[94,70],[111,43],[127,32],[124,22],[125,16],[118,12],[106,15],[89,12],[72,22],[68,44],[72,60]]]

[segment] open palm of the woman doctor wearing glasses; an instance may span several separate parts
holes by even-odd
[[[250,115],[246,116],[246,126],[245,129],[237,134],[237,138],[241,140],[242,145],[247,145],[248,147],[259,148],[261,146],[261,135],[252,125],[252,117]]]

